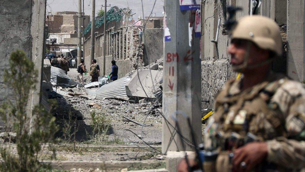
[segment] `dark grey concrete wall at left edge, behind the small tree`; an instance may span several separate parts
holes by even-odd
[[[31,3],[27,1],[0,1],[0,104],[12,98],[12,89],[3,83],[4,70],[12,51],[22,49],[28,58],[32,57]],[[25,10],[27,9],[27,10]],[[22,27],[20,27],[22,26]],[[29,46],[31,45],[31,46]]]

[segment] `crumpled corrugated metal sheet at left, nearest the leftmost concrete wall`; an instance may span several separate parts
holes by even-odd
[[[54,86],[63,87],[75,87],[78,83],[72,81],[71,78],[66,75],[66,72],[58,67],[51,66],[51,80],[50,82]]]

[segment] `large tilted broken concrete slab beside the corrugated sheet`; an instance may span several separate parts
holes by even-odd
[[[126,94],[129,97],[155,98],[153,93],[159,90],[160,84],[158,83],[162,77],[163,72],[161,70],[140,69],[133,74],[132,79],[126,84]]]

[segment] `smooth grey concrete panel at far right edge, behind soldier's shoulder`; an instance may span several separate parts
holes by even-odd
[[[287,74],[292,79],[305,79],[304,0],[287,0]]]

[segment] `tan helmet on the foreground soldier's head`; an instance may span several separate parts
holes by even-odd
[[[246,39],[261,49],[270,50],[277,56],[282,55],[280,29],[274,20],[264,16],[253,15],[240,18],[232,30],[231,38]]]

